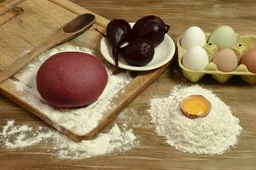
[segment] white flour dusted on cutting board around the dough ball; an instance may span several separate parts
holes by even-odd
[[[108,84],[95,103],[79,109],[55,109],[47,105],[40,94],[38,94],[36,75],[40,65],[42,65],[46,59],[53,54],[63,51],[79,51],[93,54],[93,51],[88,48],[74,47],[67,44],[61,45],[57,48],[50,49],[45,54],[40,55],[37,60],[27,65],[24,71],[15,75],[18,81],[13,82],[15,83],[15,88],[23,94],[22,99],[29,105],[32,105],[32,107],[44,113],[44,116],[49,117],[50,120],[67,128],[71,132],[84,135],[98,125],[103,114],[111,108],[111,99],[113,99],[125,85],[131,82],[132,77],[128,72],[113,75],[112,71],[106,66],[108,71]],[[57,126],[55,126],[55,128],[58,129]]]

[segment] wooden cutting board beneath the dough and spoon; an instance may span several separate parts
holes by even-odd
[[[67,0],[6,0],[3,4],[0,6],[0,70],[11,65],[16,59],[26,54],[27,51],[40,46],[44,42],[45,37],[48,37],[53,31],[65,25],[69,20],[73,20],[79,14],[91,13],[89,10]],[[10,8],[14,6],[15,8]],[[71,43],[96,49],[96,54],[102,57],[99,53],[99,44],[102,36],[93,27],[104,31],[108,20],[97,14],[95,15],[96,23],[94,26],[80,37],[71,41]],[[84,135],[73,133],[61,125],[56,126],[55,122],[49,119],[49,117],[44,116],[42,111],[29,105],[26,100],[21,98],[20,92],[15,89],[12,81],[7,80],[0,84],[0,92],[27,111],[31,111],[32,114],[38,116],[44,122],[49,123],[53,127],[58,127],[57,130],[69,138],[80,141],[90,139],[101,131],[108,122],[117,116],[125,105],[128,105],[132,99],[140,94],[144,88],[147,88],[151,82],[154,82],[157,77],[160,77],[167,67],[168,64],[154,71],[137,74],[121,90],[122,93],[119,92],[117,97],[112,100],[114,104],[112,109],[104,113],[97,127]]]

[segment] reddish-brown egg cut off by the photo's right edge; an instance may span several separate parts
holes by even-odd
[[[240,63],[246,65],[248,71],[256,73],[256,48],[252,48],[243,54]]]

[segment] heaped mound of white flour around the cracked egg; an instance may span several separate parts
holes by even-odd
[[[206,117],[189,119],[180,111],[182,99],[201,94],[212,104]],[[241,133],[239,119],[232,116],[230,107],[210,90],[198,85],[177,86],[169,97],[151,99],[148,110],[156,132],[177,150],[196,154],[222,154],[237,143]]]

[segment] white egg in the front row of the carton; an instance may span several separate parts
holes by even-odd
[[[190,48],[183,55],[183,65],[192,71],[202,71],[209,63],[206,50],[201,47]]]

